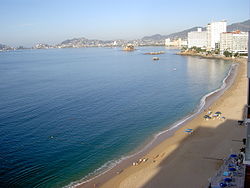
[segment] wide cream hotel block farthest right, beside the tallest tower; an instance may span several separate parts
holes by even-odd
[[[231,53],[247,53],[248,33],[239,30],[220,34],[220,51]]]

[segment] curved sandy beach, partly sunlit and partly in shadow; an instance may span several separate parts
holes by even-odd
[[[234,81],[231,87],[222,94],[209,96],[210,103],[206,101],[202,113],[170,131],[168,138],[153,144],[150,151],[131,157],[106,176],[79,187],[207,187],[223,159],[239,152],[245,137],[245,127],[238,126],[237,121],[243,119],[247,100],[246,59],[235,61],[238,62],[235,78],[226,80]],[[203,116],[208,111],[220,111],[226,119],[206,121]],[[193,133],[185,132],[186,129]]]

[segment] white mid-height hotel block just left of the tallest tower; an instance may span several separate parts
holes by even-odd
[[[200,47],[205,49],[207,47],[207,31],[202,31],[198,28],[197,31],[188,33],[188,48]]]

